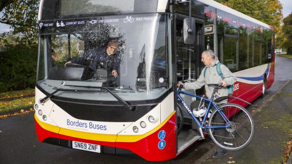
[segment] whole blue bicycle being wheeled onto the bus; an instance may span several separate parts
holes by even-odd
[[[236,97],[221,97],[214,100],[214,96],[218,89],[222,88],[222,84],[208,84],[208,86],[214,87],[214,91],[212,97],[210,99],[206,99],[200,97],[198,95],[190,94],[181,90],[182,85],[180,85],[177,97],[178,97],[178,110],[177,110],[177,119],[180,123],[177,126],[177,134],[180,133],[180,130],[183,125],[183,114],[182,108],[187,111],[187,113],[191,116],[191,118],[198,124],[199,131],[201,137],[204,138],[203,130],[207,130],[209,135],[214,143],[218,146],[222,147],[225,150],[239,150],[247,146],[248,143],[251,142],[253,134],[254,134],[254,123],[253,120],[248,113],[247,109],[241,105],[235,103],[224,103],[220,106],[217,105],[218,102],[222,100],[235,98],[241,101],[244,101],[240,98]],[[198,106],[198,110],[201,110],[201,113],[198,110],[192,112],[187,104],[183,101],[180,94],[196,97],[200,99],[200,104]],[[208,105],[206,105],[206,103]],[[244,101],[246,102],[246,101]],[[249,102],[246,102],[250,104]],[[207,106],[207,107],[206,107]],[[211,107],[213,106],[213,108]],[[209,112],[213,109],[210,117],[208,118]],[[202,112],[203,111],[203,112]],[[199,117],[199,120],[197,117]],[[203,116],[203,118],[202,118]]]

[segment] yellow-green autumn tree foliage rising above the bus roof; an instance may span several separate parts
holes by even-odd
[[[249,17],[263,21],[279,31],[283,18],[282,4],[279,0],[216,0]]]

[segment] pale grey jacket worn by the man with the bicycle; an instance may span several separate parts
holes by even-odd
[[[218,64],[219,61],[217,59],[214,60],[209,66],[205,66],[204,69],[206,69],[206,75],[204,76],[204,69],[201,72],[201,75],[199,79],[197,79],[196,82],[186,82],[183,85],[184,89],[200,89],[203,85],[205,85],[206,95],[210,99],[213,93],[214,88],[207,86],[207,84],[215,84],[220,83],[223,79],[221,76],[218,75],[216,70],[216,64]],[[234,82],[236,82],[235,76],[232,74],[232,72],[229,71],[229,69],[221,64],[220,66],[223,76],[225,77],[224,81],[227,83],[227,85],[233,85]],[[223,87],[222,89],[218,90],[218,93],[216,93],[216,97],[223,97],[228,96],[228,89],[227,87]]]

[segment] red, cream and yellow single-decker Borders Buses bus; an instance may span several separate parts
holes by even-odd
[[[213,0],[41,0],[38,20],[34,120],[43,143],[170,160],[201,139],[187,133],[186,114],[178,121],[176,84],[199,78],[203,50],[237,77],[232,96],[252,102],[274,81],[273,28]],[[115,54],[96,61],[111,41]],[[76,58],[87,62],[65,65]]]

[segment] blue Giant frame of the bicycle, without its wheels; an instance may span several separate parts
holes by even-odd
[[[214,93],[215,93],[215,89],[214,89],[213,95],[214,95]],[[187,106],[187,104],[180,97],[180,94],[184,94],[184,95],[196,97],[198,99],[202,99],[205,102],[209,102],[209,105],[208,105],[208,108],[206,110],[205,116],[203,118],[202,124],[200,124],[200,122],[198,121],[198,119],[194,116],[193,112],[190,110],[190,108]],[[187,92],[181,91],[179,89],[178,92],[177,92],[177,97],[180,100],[180,102],[182,102],[182,104],[184,105],[184,107],[187,109],[189,115],[193,118],[193,120],[195,120],[195,122],[198,124],[198,126],[200,126],[200,128],[202,128],[202,129],[211,129],[211,128],[226,128],[226,127],[230,127],[229,120],[227,119],[227,117],[225,116],[225,114],[220,109],[218,109],[217,105],[213,102],[213,96],[212,96],[211,99],[205,99],[205,98],[202,98],[200,96],[197,96],[197,95],[194,95],[194,94],[191,94],[191,93],[187,93]],[[206,122],[206,119],[208,117],[209,110],[211,108],[211,104],[216,108],[216,110],[221,115],[221,117],[224,119],[225,123],[227,123],[227,125],[225,125],[225,126],[204,126],[204,123]]]

